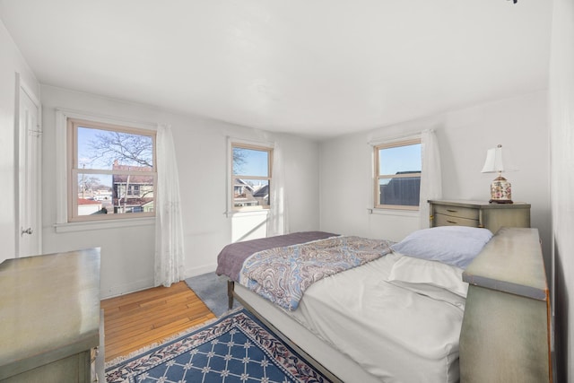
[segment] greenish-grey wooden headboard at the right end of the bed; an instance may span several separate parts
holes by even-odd
[[[537,229],[501,228],[463,274],[461,382],[552,382],[551,311]]]

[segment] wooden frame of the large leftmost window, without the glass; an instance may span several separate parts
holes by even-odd
[[[102,170],[102,169],[80,169],[78,160],[78,146],[77,146],[77,129],[78,127],[87,127],[100,130],[108,130],[112,132],[121,132],[133,135],[145,135],[152,138],[152,171],[142,170]],[[65,117],[65,133],[66,133],[66,222],[67,223],[89,223],[89,222],[133,222],[134,220],[150,219],[155,217],[155,209],[153,212],[137,212],[137,213],[114,213],[114,214],[94,214],[94,215],[79,215],[78,214],[78,176],[79,174],[109,174],[113,175],[134,175],[152,177],[153,187],[152,195],[155,204],[155,196],[157,196],[157,131],[155,129],[147,129],[143,127],[126,126],[122,123],[115,122],[101,122],[95,121],[91,118],[78,118],[78,117]],[[113,187],[113,185],[112,185]],[[112,192],[113,193],[113,192]]]

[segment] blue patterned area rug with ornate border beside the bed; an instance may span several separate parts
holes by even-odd
[[[233,311],[106,368],[111,382],[329,382],[254,318]]]

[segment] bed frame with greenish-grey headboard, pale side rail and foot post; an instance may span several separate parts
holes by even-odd
[[[463,274],[462,382],[552,382],[550,300],[537,229],[502,228]],[[335,382],[377,382],[268,300],[228,283],[233,298]]]

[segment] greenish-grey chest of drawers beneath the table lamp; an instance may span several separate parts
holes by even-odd
[[[431,227],[471,226],[496,233],[501,227],[529,228],[530,204],[489,204],[486,201],[430,200]]]

